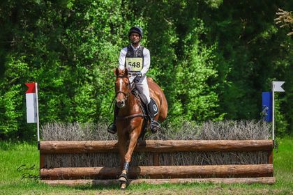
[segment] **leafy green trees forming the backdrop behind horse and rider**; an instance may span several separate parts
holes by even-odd
[[[261,92],[285,81],[278,134],[293,132],[292,38],[273,22],[290,1],[1,1],[0,137],[31,137],[24,83],[40,86],[40,123],[112,120],[113,69],[144,29],[168,120],[258,119]]]

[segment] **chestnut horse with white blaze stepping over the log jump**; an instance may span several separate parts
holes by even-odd
[[[148,123],[143,114],[142,107],[140,106],[140,100],[133,94],[135,84],[131,84],[128,77],[128,70],[125,68],[121,70],[116,68],[114,70],[116,75],[115,81],[115,93],[116,104],[119,107],[117,115],[116,126],[118,135],[118,146],[120,155],[121,175],[119,176],[119,182],[121,182],[121,189],[126,188],[128,182],[128,168],[133,155],[133,150],[137,145],[137,140],[140,138],[144,130],[144,124]],[[158,105],[158,114],[154,120],[163,123],[167,117],[167,100],[165,95],[151,78],[147,78],[149,85],[150,96],[156,101]],[[127,143],[128,148],[127,148]]]

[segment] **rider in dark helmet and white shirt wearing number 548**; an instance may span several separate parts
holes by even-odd
[[[131,44],[121,49],[119,56],[119,68],[123,70],[128,69],[128,75],[130,82],[136,84],[136,88],[144,95],[144,103],[147,104],[147,110],[150,119],[151,132],[156,132],[160,128],[160,124],[153,120],[155,111],[153,110],[153,102],[149,96],[149,86],[147,84],[146,73],[149,70],[151,56],[149,49],[140,45],[142,39],[142,29],[138,26],[134,26],[128,33],[128,38]],[[114,106],[114,122],[111,123],[107,129],[108,132],[114,134],[117,132],[116,116],[118,115],[119,108],[115,104]]]

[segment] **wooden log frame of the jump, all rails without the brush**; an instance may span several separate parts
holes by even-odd
[[[204,166],[160,166],[159,164],[159,153],[198,151],[266,151],[269,158],[268,164]],[[153,153],[154,166],[130,166],[129,176],[135,179],[131,180],[133,183],[141,181],[150,183],[206,181],[271,184],[275,182],[275,178],[273,178],[273,141],[271,140],[147,140],[139,141],[135,152]],[[44,165],[45,155],[78,153],[118,153],[118,144],[117,141],[41,141],[40,178],[52,185],[107,184],[113,182],[113,180],[108,179],[116,179],[121,173],[119,167],[61,167],[48,169]]]

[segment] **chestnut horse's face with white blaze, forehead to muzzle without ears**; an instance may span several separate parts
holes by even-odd
[[[126,100],[129,94],[128,88],[129,80],[126,77],[117,77],[115,82],[115,89],[117,94],[117,107],[123,108],[126,105]]]

